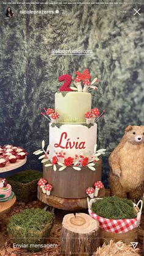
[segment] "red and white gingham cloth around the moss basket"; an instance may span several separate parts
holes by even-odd
[[[134,219],[106,219],[89,211],[90,216],[99,222],[99,227],[110,233],[126,233],[135,228],[137,218]]]

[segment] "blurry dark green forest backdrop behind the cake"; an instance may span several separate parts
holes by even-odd
[[[106,185],[107,159],[124,128],[144,124],[143,16],[134,16],[136,6],[131,4],[15,4],[15,18],[6,18],[7,6],[0,6],[0,144],[26,148],[24,169],[41,169],[32,155],[42,139],[46,144],[49,140],[41,109],[54,107],[59,75],[70,73],[74,78],[74,71],[88,68],[93,78],[98,77],[93,107],[106,109],[98,123],[98,147],[107,148]],[[67,9],[68,14],[20,15],[19,10],[29,9]],[[92,49],[93,56],[54,56],[52,49]]]

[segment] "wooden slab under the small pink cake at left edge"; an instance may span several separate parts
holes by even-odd
[[[4,218],[4,215],[7,214],[13,207],[16,202],[16,196],[13,196],[12,199],[6,202],[0,202],[0,219]]]

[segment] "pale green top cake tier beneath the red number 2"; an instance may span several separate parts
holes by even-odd
[[[55,93],[55,111],[61,123],[85,123],[85,112],[92,109],[92,95],[89,92]]]

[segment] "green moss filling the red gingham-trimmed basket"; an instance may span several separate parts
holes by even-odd
[[[92,205],[92,211],[107,219],[132,219],[137,217],[131,200],[115,196],[96,200]]]

